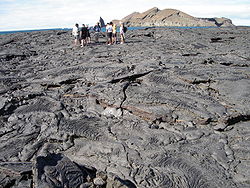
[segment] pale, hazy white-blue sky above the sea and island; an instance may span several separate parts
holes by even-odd
[[[91,26],[100,16],[110,22],[153,7],[250,26],[250,0],[0,0],[0,31]]]

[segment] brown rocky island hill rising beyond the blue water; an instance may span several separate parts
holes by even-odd
[[[145,12],[132,12],[121,20],[114,19],[114,23],[122,21],[129,27],[145,26],[180,26],[180,27],[228,27],[234,26],[232,20],[225,17],[198,18],[177,9],[150,8]]]

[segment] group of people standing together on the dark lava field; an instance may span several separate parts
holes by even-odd
[[[110,22],[106,25],[106,35],[107,35],[107,44],[117,44],[117,26],[116,24]],[[125,42],[125,32],[127,28],[124,26],[122,22],[120,22],[120,43],[123,44]],[[94,31],[94,41],[96,43],[99,42],[100,32],[101,32],[101,26],[99,23],[97,23],[93,27]],[[74,36],[74,45],[81,45],[81,47],[89,44],[91,42],[90,38],[90,28],[88,26],[85,26],[85,24],[82,24],[82,27],[79,27],[79,25],[76,23],[75,26],[72,29],[72,35]]]

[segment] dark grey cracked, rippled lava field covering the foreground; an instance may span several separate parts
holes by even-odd
[[[0,187],[250,187],[250,28],[126,35],[0,35]]]

